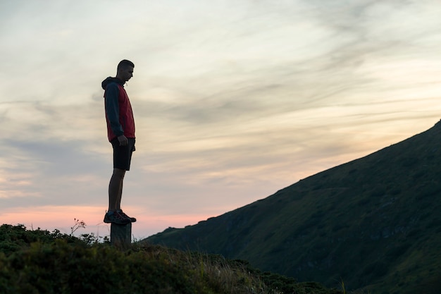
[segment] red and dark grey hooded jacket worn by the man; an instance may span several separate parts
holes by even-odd
[[[124,83],[123,80],[111,77],[101,82],[109,142],[120,135],[135,138],[135,119]]]

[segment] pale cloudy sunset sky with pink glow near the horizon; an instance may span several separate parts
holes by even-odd
[[[0,223],[109,235],[101,81],[122,59],[135,240],[431,128],[435,0],[0,0]]]

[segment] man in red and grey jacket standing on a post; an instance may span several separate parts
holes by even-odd
[[[105,223],[125,224],[135,222],[121,209],[123,179],[130,170],[132,152],[135,151],[135,120],[132,106],[124,84],[133,76],[135,65],[132,61],[118,63],[116,77],[108,77],[101,83],[104,89],[108,141],[113,147],[113,174],[108,184],[108,211]]]

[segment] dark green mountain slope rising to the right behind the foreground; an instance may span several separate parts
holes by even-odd
[[[293,163],[295,164],[295,163]],[[370,293],[441,293],[441,122],[147,242]]]

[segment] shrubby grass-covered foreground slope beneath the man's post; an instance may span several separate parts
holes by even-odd
[[[339,294],[220,255],[133,244],[119,250],[59,231],[0,226],[0,293]]]

